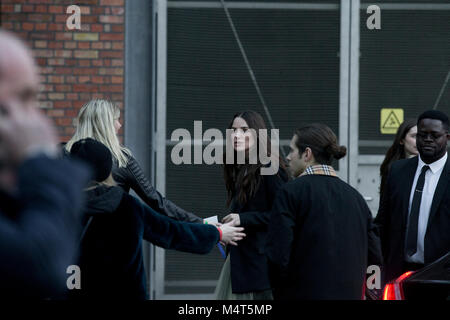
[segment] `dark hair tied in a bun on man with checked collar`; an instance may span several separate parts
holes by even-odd
[[[328,126],[312,123],[295,130],[295,144],[300,152],[310,148],[317,163],[331,165],[334,159],[341,159],[347,154],[347,148],[339,146],[337,137]]]

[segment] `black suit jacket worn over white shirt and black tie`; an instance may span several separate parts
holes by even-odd
[[[404,271],[404,248],[408,206],[418,157],[396,161],[388,175],[386,192],[380,201],[375,223],[378,226],[385,281]],[[425,234],[424,263],[429,264],[450,251],[450,157],[434,192]]]

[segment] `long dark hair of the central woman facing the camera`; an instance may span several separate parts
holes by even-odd
[[[261,182],[261,174],[260,169],[264,166],[259,159],[259,130],[267,129],[266,123],[264,122],[263,117],[257,113],[256,111],[248,110],[243,112],[238,112],[233,116],[228,129],[231,129],[233,126],[234,119],[242,118],[247,122],[247,125],[250,129],[254,129],[256,131],[256,139],[255,145],[258,148],[258,161],[256,164],[246,163],[242,165],[237,164],[237,153],[233,148],[234,152],[234,164],[227,164],[226,162],[226,154],[224,152],[224,179],[225,179],[225,187],[227,189],[228,197],[227,197],[227,206],[231,204],[233,197],[237,196],[237,199],[240,204],[245,204],[248,199],[253,197],[258,190],[259,184]],[[267,155],[270,156],[272,153],[270,146],[269,135],[267,135],[267,146],[266,152]],[[286,168],[283,159],[279,158],[279,167],[284,170]]]

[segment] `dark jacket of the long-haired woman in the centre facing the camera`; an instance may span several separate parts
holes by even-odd
[[[267,224],[276,193],[287,180],[287,173],[280,168],[276,175],[261,176],[258,190],[244,205],[233,199],[230,212],[239,213],[246,234],[237,246],[229,248],[233,293],[271,288],[265,255]]]

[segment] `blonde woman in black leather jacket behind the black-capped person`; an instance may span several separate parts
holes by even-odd
[[[165,199],[150,184],[131,151],[119,143],[119,118],[120,110],[113,103],[100,99],[87,102],[78,113],[75,134],[65,145],[65,151],[70,152],[76,141],[85,138],[93,138],[103,143],[113,156],[112,175],[118,186],[126,192],[129,192],[130,188],[133,189],[147,205],[168,217],[202,223],[200,217]]]

